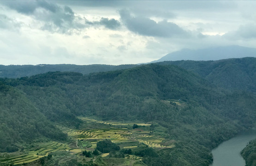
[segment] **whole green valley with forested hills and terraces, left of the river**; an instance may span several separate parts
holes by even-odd
[[[168,64],[1,78],[0,99],[3,165],[209,166],[211,149],[256,125],[253,93]]]

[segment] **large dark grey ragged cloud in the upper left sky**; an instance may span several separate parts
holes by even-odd
[[[84,29],[83,19],[75,16],[68,6],[58,6],[47,1],[3,1],[2,4],[43,23],[41,29],[51,32],[71,34]]]

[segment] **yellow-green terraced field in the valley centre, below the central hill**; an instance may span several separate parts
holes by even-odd
[[[151,124],[138,122],[136,124],[141,127],[139,129],[132,129],[131,126],[135,124],[134,122],[99,121],[87,117],[79,117],[79,119],[83,120],[84,124],[86,124],[81,130],[69,129],[63,126],[59,126],[59,128],[73,139],[89,141],[92,145],[91,148],[94,148],[96,143],[103,139],[110,139],[119,145],[133,141],[133,145],[129,145],[130,147],[137,147],[138,143],[148,145],[152,148],[173,148],[174,146],[173,142],[163,143],[165,142],[165,138],[152,134],[149,131]],[[91,126],[93,126],[92,129]],[[121,147],[124,148],[125,146]]]

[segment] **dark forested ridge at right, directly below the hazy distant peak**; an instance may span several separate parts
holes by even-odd
[[[216,61],[165,61],[159,65],[178,65],[198,73],[219,87],[256,92],[256,58],[222,59]]]

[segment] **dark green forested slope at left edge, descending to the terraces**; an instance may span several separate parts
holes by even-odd
[[[20,90],[0,82],[0,152],[17,151],[18,143],[66,138]]]

